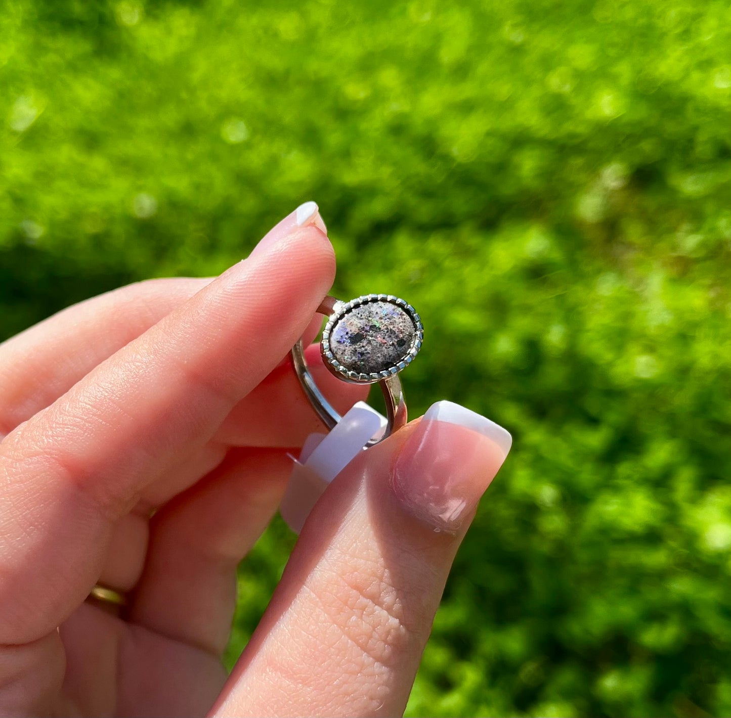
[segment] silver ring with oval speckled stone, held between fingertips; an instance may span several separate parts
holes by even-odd
[[[406,401],[398,373],[411,364],[424,339],[416,310],[393,294],[366,294],[349,302],[325,297],[317,313],[328,317],[320,340],[325,366],[349,383],[379,383],[386,402],[388,424],[382,441],[406,424]],[[317,388],[303,353],[302,341],[292,347],[292,364],[318,416],[333,429],[341,416]]]

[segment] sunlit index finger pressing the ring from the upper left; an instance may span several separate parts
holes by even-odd
[[[114,522],[183,451],[208,442],[302,335],[334,257],[319,229],[287,221],[0,445],[12,507],[0,515],[0,602],[13,607],[0,643],[47,633],[83,600]]]

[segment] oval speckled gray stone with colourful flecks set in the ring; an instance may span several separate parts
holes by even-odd
[[[390,302],[368,302],[348,312],[330,332],[330,351],[346,369],[363,374],[393,367],[406,354],[416,326]]]

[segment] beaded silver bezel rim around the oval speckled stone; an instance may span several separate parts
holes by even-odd
[[[403,309],[414,322],[416,333],[414,334],[414,340],[412,341],[412,345],[409,347],[409,351],[406,352],[404,359],[401,359],[398,364],[393,364],[393,366],[380,372],[365,374],[350,370],[338,362],[335,356],[333,356],[333,351],[330,349],[330,332],[332,331],[333,326],[335,326],[338,321],[341,321],[346,314],[352,312],[352,310],[356,307],[360,307],[361,305],[369,304],[371,302],[389,302],[390,304],[395,304],[397,307]],[[338,302],[335,311],[330,315],[330,318],[327,320],[327,324],[325,324],[325,329],[322,330],[320,354],[322,354],[322,360],[325,362],[325,366],[338,378],[356,384],[373,384],[376,383],[376,381],[382,381],[382,379],[387,379],[390,376],[398,374],[406,369],[406,367],[408,367],[414,360],[414,356],[419,354],[423,340],[424,327],[421,323],[421,318],[409,302],[404,301],[404,299],[394,297],[393,294],[364,294],[363,297],[351,299],[349,302]]]

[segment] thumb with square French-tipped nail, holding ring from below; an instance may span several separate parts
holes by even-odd
[[[400,715],[510,435],[440,402],[357,457],[305,524],[217,715]]]

